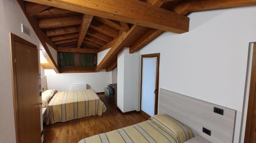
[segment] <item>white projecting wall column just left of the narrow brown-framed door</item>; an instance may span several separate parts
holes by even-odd
[[[117,106],[122,112],[139,111],[139,54],[129,53],[129,48],[117,58]]]

